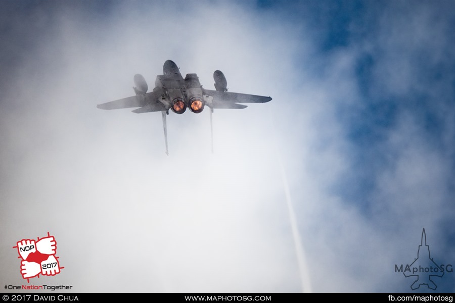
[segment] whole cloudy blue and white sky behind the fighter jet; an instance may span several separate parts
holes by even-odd
[[[48,231],[65,269],[39,283],[81,292],[410,292],[423,228],[455,264],[452,2],[0,8],[5,284]],[[273,99],[215,111],[214,155],[205,111],[171,113],[167,157],[159,114],[96,108],[167,59]]]

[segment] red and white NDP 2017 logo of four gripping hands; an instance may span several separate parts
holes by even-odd
[[[21,275],[29,282],[39,275],[55,276],[60,273],[59,257],[56,256],[57,242],[48,232],[48,236],[37,240],[22,239],[16,243],[21,261]]]

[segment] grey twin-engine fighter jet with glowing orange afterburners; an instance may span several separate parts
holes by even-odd
[[[183,114],[189,108],[190,111],[198,114],[207,106],[210,108],[213,152],[212,113],[214,109],[244,109],[247,106],[239,103],[265,103],[271,100],[270,97],[265,96],[228,92],[228,82],[221,71],[215,71],[213,79],[216,90],[204,89],[197,74],[187,74],[184,79],[177,65],[167,60],[163,66],[163,75],[156,77],[155,88],[151,92],[147,92],[148,85],[144,77],[136,74],[133,78],[134,96],[99,104],[97,107],[103,110],[138,108],[132,111],[138,114],[161,112],[166,154],[169,155],[166,126],[166,115],[169,115],[169,109],[176,114]]]

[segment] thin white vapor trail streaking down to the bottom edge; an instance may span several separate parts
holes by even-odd
[[[291,222],[292,237],[294,238],[295,252],[297,255],[297,262],[299,264],[300,279],[302,282],[302,292],[311,292],[311,280],[308,274],[308,265],[306,263],[305,250],[302,241],[300,240],[299,230],[297,228],[297,220],[292,207],[291,193],[289,190],[288,179],[286,172],[281,162],[281,158],[277,153],[278,163],[280,165],[281,178],[283,180],[283,187],[286,195],[286,204],[288,206],[289,221]]]

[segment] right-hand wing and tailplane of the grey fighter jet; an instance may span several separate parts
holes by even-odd
[[[212,106],[214,109],[244,109],[245,105],[238,103],[265,103],[271,100],[270,97],[251,95],[246,93],[204,90],[206,95],[212,96]]]

